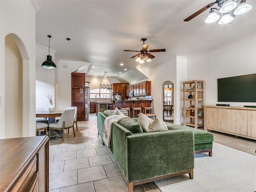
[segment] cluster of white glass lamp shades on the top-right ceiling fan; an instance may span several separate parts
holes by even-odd
[[[246,3],[246,0],[223,0],[218,3],[219,9],[211,8],[208,17],[206,18],[206,23],[216,22],[220,16],[214,12],[214,10],[219,10],[223,14],[219,21],[219,24],[226,24],[232,22],[235,15],[241,15],[251,10],[252,6]],[[239,2],[239,5],[237,6]],[[236,8],[237,6],[237,8]],[[236,8],[236,10],[234,10]]]

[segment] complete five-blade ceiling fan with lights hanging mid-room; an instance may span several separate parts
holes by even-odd
[[[148,45],[145,44],[145,41],[147,40],[146,38],[142,38],[141,39],[143,41],[143,45],[142,45],[142,50],[137,51],[137,50],[124,50],[125,52],[140,52],[134,56],[132,56],[131,58],[136,58],[136,61],[139,63],[144,63],[144,60],[146,60],[146,62],[152,62],[152,58],[154,58],[155,56],[150,54],[149,52],[165,52],[165,49],[151,49],[148,50]]]

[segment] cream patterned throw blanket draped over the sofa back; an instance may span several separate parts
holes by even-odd
[[[109,148],[110,146],[110,138],[112,134],[112,124],[114,122],[119,122],[123,118],[129,118],[128,116],[125,115],[111,115],[106,117],[104,120],[104,126],[103,126],[103,141],[106,145],[106,147]]]

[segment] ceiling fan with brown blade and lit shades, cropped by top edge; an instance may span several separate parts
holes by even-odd
[[[190,15],[188,18],[184,19],[184,21],[190,21],[192,18],[198,16],[208,8],[214,6],[214,4],[218,4],[219,8],[211,8],[208,17],[205,20],[206,23],[216,22],[220,18],[220,16],[216,14],[214,10],[219,10],[219,12],[223,14],[222,18],[218,23],[226,24],[226,23],[230,23],[234,19],[234,16],[244,14],[250,11],[252,8],[251,5],[246,3],[246,0],[237,0],[237,1],[236,0],[216,0],[215,2],[209,3],[208,5],[204,6],[202,9]]]

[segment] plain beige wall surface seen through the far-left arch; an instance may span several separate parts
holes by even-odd
[[[10,35],[5,38],[5,138],[22,137],[22,57]],[[15,121],[14,121],[15,119]]]

